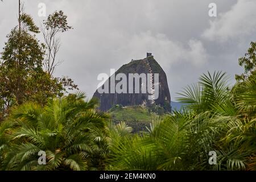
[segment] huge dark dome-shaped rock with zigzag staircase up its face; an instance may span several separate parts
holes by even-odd
[[[127,92],[110,93],[110,87],[112,86],[113,88],[113,85],[116,86],[118,82],[122,81],[122,78],[120,78],[119,80],[115,80],[115,76],[117,76],[118,73],[123,73],[127,77]],[[149,85],[149,87],[147,87],[146,93],[142,92],[142,79],[139,79],[139,93],[134,92],[135,80],[129,80],[129,74],[134,73],[138,73],[138,75],[144,73],[144,75],[147,76],[146,84]],[[158,73],[159,78],[155,76],[155,73]],[[133,85],[132,93],[129,92],[129,87],[131,87],[130,84]],[[166,73],[164,73],[163,69],[156,62],[154,57],[151,56],[151,54],[147,54],[147,57],[145,59],[132,60],[129,64],[123,65],[121,68],[118,69],[117,72],[115,72],[114,75],[109,77],[104,85],[109,87],[109,93],[102,93],[102,91],[99,93],[99,89],[97,89],[93,95],[93,97],[98,98],[100,102],[99,109],[102,111],[108,111],[113,105],[157,105],[163,107],[165,111],[171,111],[171,96],[168,88]],[[101,89],[104,89],[104,85],[101,86]],[[124,87],[121,86],[120,88],[123,89]],[[158,92],[158,94],[155,94],[155,92]],[[158,98],[154,99],[154,96],[157,97],[157,95]]]

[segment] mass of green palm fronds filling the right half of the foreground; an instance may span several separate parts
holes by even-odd
[[[110,169],[256,169],[255,86],[256,78],[229,89],[225,73],[204,74],[180,93],[182,112],[112,147]],[[209,151],[217,152],[216,165]]]

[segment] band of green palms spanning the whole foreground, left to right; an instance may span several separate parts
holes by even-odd
[[[124,122],[105,126],[108,117],[82,94],[19,106],[0,126],[2,169],[255,170],[256,76],[232,89],[227,83],[225,73],[201,76],[181,92],[182,111],[135,135]]]

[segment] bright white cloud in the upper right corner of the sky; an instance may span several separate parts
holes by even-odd
[[[238,0],[236,5],[226,13],[220,14],[215,20],[210,20],[210,27],[204,31],[204,38],[226,42],[242,39],[255,34],[256,1]]]

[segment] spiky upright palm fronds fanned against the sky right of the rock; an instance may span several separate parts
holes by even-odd
[[[177,100],[184,105],[186,109],[195,113],[210,111],[214,106],[220,105],[228,100],[229,86],[228,77],[225,73],[214,72],[213,76],[208,72],[199,78],[197,84],[187,86],[183,92],[179,93],[181,97]]]

